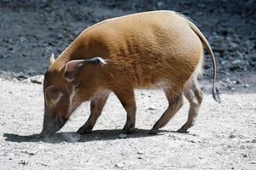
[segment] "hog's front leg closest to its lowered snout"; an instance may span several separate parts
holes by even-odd
[[[94,127],[97,119],[102,114],[104,105],[107,102],[109,94],[105,94],[100,98],[96,98],[90,101],[90,116],[87,122],[84,123],[82,127],[79,128],[79,134],[91,133],[92,128]]]

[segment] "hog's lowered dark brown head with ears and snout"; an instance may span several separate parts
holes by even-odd
[[[56,62],[56,63],[55,63]],[[84,101],[80,96],[83,92],[78,89],[79,71],[87,64],[105,65],[104,59],[71,60],[60,70],[55,69],[58,61],[52,55],[49,69],[44,75],[44,124],[42,136],[56,133],[67,122],[73,111]],[[84,71],[84,70],[83,70]]]

